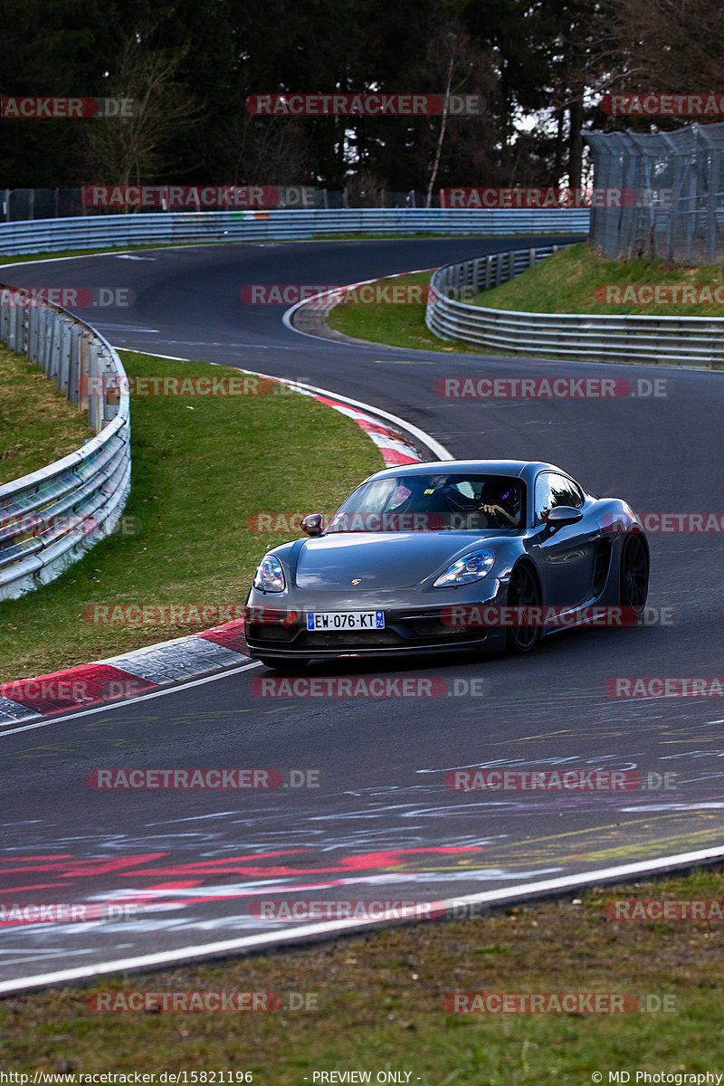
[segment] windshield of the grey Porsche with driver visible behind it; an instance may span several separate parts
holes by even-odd
[[[516,531],[524,509],[524,484],[509,476],[403,475],[363,483],[325,530]]]

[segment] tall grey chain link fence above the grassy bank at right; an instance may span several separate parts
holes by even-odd
[[[590,243],[605,256],[724,262],[724,124],[585,139],[595,187],[623,190],[621,207],[592,209]]]

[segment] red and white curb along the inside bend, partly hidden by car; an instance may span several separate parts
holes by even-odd
[[[280,378],[271,380],[280,381]],[[367,414],[363,405],[354,401],[345,402],[312,386],[283,380],[280,383],[352,418],[378,446],[385,467],[417,464],[422,459],[408,438]],[[419,433],[430,447],[434,447],[427,434]],[[439,447],[449,456],[446,450]],[[148,645],[106,660],[81,664],[34,679],[0,683],[0,728],[30,723],[74,709],[128,700],[139,694],[236,668],[247,659],[244,622],[243,619],[236,619],[201,633]]]

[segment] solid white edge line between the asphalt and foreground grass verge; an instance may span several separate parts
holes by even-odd
[[[651,874],[672,867],[696,864],[706,861],[724,859],[724,847],[703,848],[693,853],[681,853],[658,860],[642,860],[636,863],[624,863],[615,868],[600,868],[574,875],[562,875],[559,879],[547,879],[542,882],[528,883],[521,887],[483,891],[480,894],[468,894],[459,897],[435,900],[435,909],[453,908],[461,905],[501,905],[520,900],[525,897],[541,897],[566,889],[581,889],[583,886],[596,886],[601,882],[617,882],[635,875]],[[78,965],[74,969],[58,970],[54,973],[38,973],[34,976],[17,977],[14,981],[0,983],[0,994],[18,992],[26,988],[37,988],[51,984],[68,984],[72,981],[84,981],[101,973],[119,973],[130,969],[156,969],[175,963],[193,961],[199,958],[231,955],[238,951],[250,951],[269,947],[276,944],[299,943],[315,936],[339,935],[343,932],[365,931],[382,927],[391,920],[398,920],[394,911],[386,919],[369,918],[366,920],[325,921],[318,924],[304,924],[301,927],[287,929],[283,932],[265,932],[262,935],[246,935],[236,939],[224,939],[217,943],[206,943],[203,946],[179,947],[176,950],[160,950],[155,954],[138,955],[135,958],[118,958],[99,962],[96,965]],[[415,919],[415,918],[410,918]],[[419,920],[417,922],[420,922]]]

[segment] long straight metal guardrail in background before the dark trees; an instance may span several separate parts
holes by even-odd
[[[341,209],[335,211],[164,212],[96,215],[0,224],[0,254],[104,249],[114,245],[263,241],[335,233],[587,233],[589,212]]]

